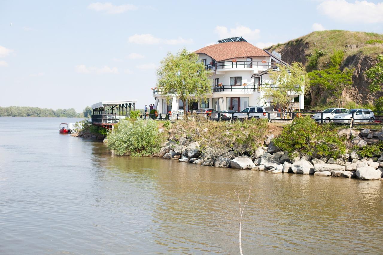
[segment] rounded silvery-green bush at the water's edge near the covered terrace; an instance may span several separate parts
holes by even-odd
[[[117,155],[153,155],[164,141],[155,121],[141,119],[121,120],[107,137],[108,148]]]

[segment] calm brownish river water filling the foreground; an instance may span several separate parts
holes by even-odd
[[[118,157],[58,132],[68,118],[0,117],[1,254],[382,253],[383,181]]]

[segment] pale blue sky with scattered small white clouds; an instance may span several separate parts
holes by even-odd
[[[0,1],[0,106],[154,103],[166,52],[243,36],[263,47],[319,29],[383,33],[382,1]],[[10,23],[12,25],[10,26]]]

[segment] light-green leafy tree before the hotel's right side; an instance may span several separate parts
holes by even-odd
[[[270,80],[277,85],[277,88],[265,88],[265,97],[272,98],[274,103],[281,105],[289,111],[289,105],[293,96],[301,94],[309,88],[307,72],[303,65],[293,62],[291,66],[278,64],[278,70],[269,72]]]

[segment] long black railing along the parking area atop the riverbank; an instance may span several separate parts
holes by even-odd
[[[299,102],[293,102],[299,103]],[[343,117],[339,116],[342,113],[323,113],[322,111],[289,111],[289,112],[257,112],[257,113],[157,113],[157,114],[142,114],[141,119],[156,119],[156,120],[170,120],[175,121],[178,119],[196,119],[197,116],[205,116],[206,119],[211,119],[215,121],[230,121],[230,120],[244,120],[244,119],[268,119],[270,121],[292,121],[295,118],[301,118],[304,116],[310,116],[318,124],[345,124],[347,126],[353,127],[358,124],[368,124],[368,125],[382,125],[383,124],[383,112],[378,111],[367,111],[358,114],[352,112],[345,118],[336,118]],[[316,117],[314,117],[316,116]]]

